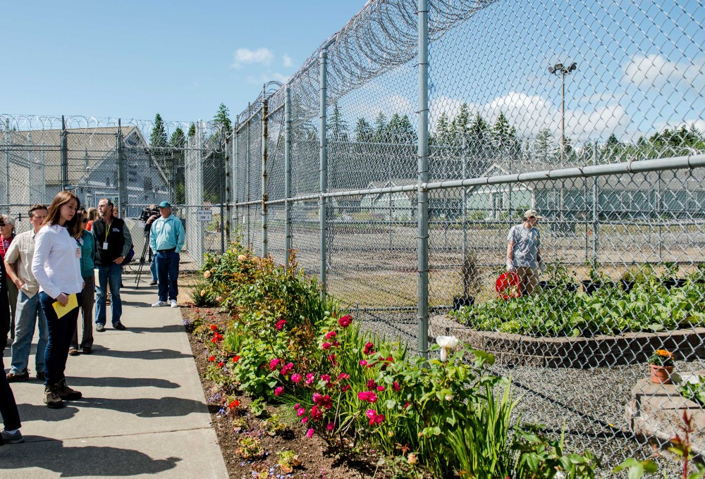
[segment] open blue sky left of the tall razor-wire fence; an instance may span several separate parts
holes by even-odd
[[[6,1],[0,113],[231,116],[283,80],[364,0]]]

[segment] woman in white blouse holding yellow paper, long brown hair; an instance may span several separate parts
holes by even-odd
[[[73,192],[59,192],[51,201],[47,218],[35,236],[32,273],[39,283],[39,304],[47,316],[49,330],[44,354],[44,404],[50,408],[62,407],[64,400],[82,396],[66,385],[63,374],[79,309],[77,306],[61,318],[54,310],[54,303],[66,306],[72,294],[76,295],[76,304],[81,304],[81,246],[75,239],[82,228],[81,218],[75,214],[80,204]]]

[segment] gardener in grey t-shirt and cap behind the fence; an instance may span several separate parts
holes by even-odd
[[[522,224],[515,225],[507,235],[507,270],[519,276],[522,296],[534,294],[541,275],[541,235],[536,225],[543,219],[535,209],[524,212]]]

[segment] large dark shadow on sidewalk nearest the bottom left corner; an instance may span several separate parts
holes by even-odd
[[[142,452],[118,447],[65,447],[62,441],[42,436],[25,435],[23,444],[0,449],[4,471],[37,467],[61,473],[62,478],[155,474],[173,469],[179,461],[178,457],[152,459]]]

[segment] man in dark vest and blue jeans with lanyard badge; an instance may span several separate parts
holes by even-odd
[[[125,222],[113,216],[113,203],[106,198],[98,201],[100,218],[94,221],[91,232],[95,237],[95,267],[98,270],[98,294],[95,302],[95,330],[105,330],[107,287],[110,286],[112,299],[113,328],[124,330],[120,322],[123,314],[123,303],[120,299],[120,285],[123,279],[123,268],[120,266],[132,246],[130,230]]]

